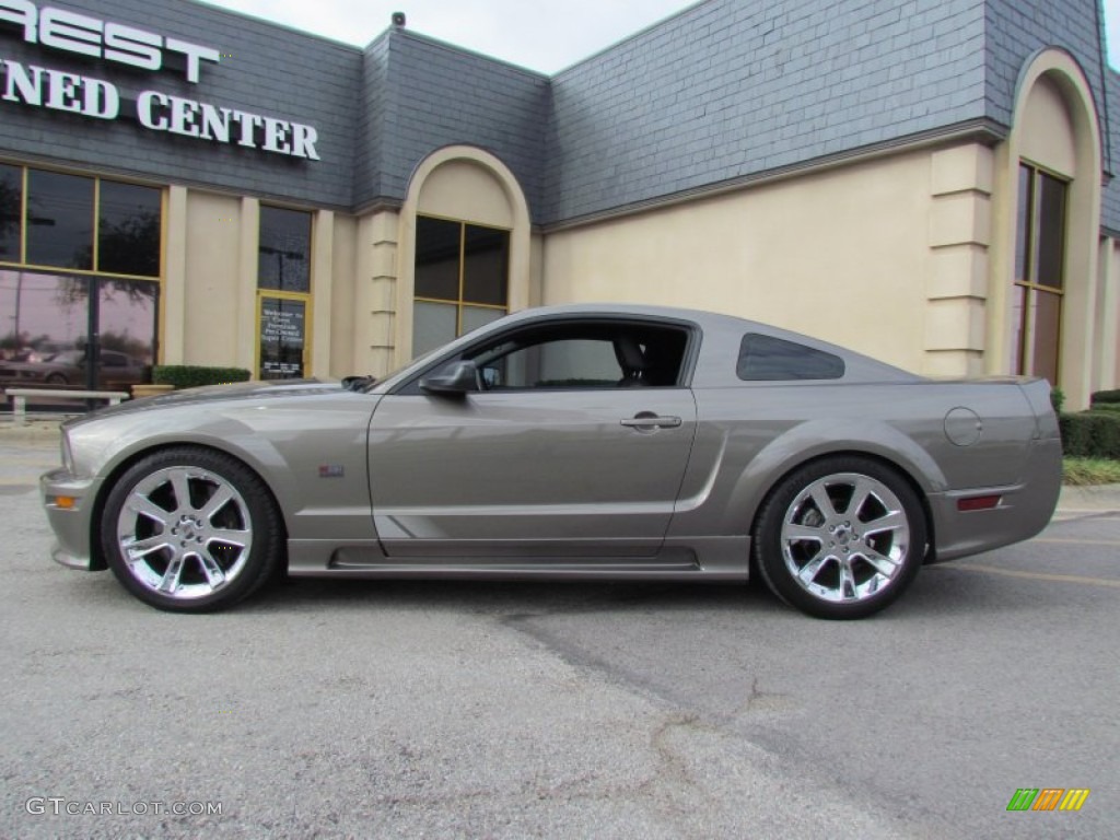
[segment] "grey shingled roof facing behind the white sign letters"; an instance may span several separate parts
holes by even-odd
[[[0,148],[355,211],[404,198],[416,166],[484,147],[553,225],[956,130],[998,138],[1046,46],[1085,71],[1120,165],[1120,82],[1098,0],[708,0],[548,77],[391,28],[364,50],[179,0],[69,0],[101,19],[230,53],[204,84],[4,38],[3,57],[316,125],[320,161],[0,103]],[[1105,95],[1105,86],[1108,95]],[[1120,187],[1103,223],[1120,230]]]

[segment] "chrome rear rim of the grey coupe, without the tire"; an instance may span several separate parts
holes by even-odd
[[[898,497],[856,473],[820,478],[786,510],[782,556],[793,579],[822,600],[859,601],[898,576],[911,529]]]

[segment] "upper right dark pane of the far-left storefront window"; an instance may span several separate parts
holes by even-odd
[[[101,181],[97,270],[159,277],[160,192]]]

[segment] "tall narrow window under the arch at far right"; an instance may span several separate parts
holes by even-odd
[[[1012,373],[1058,384],[1066,183],[1023,164],[1011,307]]]

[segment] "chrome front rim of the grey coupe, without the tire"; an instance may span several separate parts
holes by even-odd
[[[161,596],[195,599],[233,582],[253,547],[237,488],[198,467],[165,467],[140,480],[116,517],[125,567]]]

